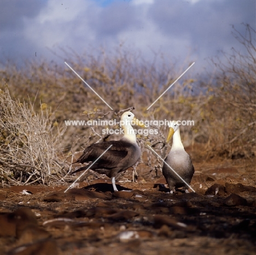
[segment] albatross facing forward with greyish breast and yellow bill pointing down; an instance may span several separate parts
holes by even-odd
[[[184,150],[184,146],[181,141],[181,134],[179,133],[179,125],[176,121],[169,122],[170,127],[167,142],[173,136],[172,148],[165,158],[165,162],[172,167],[176,173],[182,177],[182,179],[190,184],[190,181],[194,175],[194,165],[188,155]],[[185,187],[186,191],[189,188],[182,180],[179,178],[171,169],[164,163],[162,167],[162,174],[165,176],[168,187],[171,193],[175,191],[176,188]]]

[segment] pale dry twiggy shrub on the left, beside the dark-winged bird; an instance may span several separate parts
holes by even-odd
[[[0,179],[2,185],[48,184],[63,175],[63,159],[58,145],[63,128],[54,114],[42,104],[33,105],[12,99],[5,87],[0,90]]]

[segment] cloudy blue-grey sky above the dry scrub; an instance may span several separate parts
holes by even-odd
[[[231,34],[232,25],[245,33],[242,23],[255,28],[255,0],[0,0],[0,61],[60,61],[51,50],[124,43],[149,60],[195,61],[200,72],[219,51],[242,50]]]

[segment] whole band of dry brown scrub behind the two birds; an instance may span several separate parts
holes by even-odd
[[[112,106],[108,108],[64,63],[26,62],[23,67],[5,64],[0,71],[0,180],[12,183],[65,182],[75,152],[91,143],[119,139],[102,135],[106,127],[65,126],[65,120],[111,120],[132,110],[139,120],[194,120],[182,126],[183,144],[194,161],[210,158],[255,157],[255,31],[245,25],[234,36],[246,48],[236,49],[223,63],[212,59],[212,70],[203,75],[186,73],[149,110],[148,106],[191,63],[184,66],[156,55],[144,61],[139,52],[120,47],[100,57],[64,50],[66,61]],[[193,68],[192,68],[193,69]],[[135,109],[133,109],[135,108]],[[110,126],[109,128],[119,128]],[[167,127],[150,127],[159,135],[138,135],[143,150],[141,162],[153,177],[162,163],[146,149],[167,155]],[[68,159],[68,160],[67,160]]]

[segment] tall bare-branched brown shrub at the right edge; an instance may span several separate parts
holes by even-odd
[[[214,60],[217,72],[208,102],[210,156],[250,158],[255,156],[256,48],[255,30],[245,24],[245,33],[233,27],[235,38],[246,53],[233,49],[223,55],[226,63]]]

